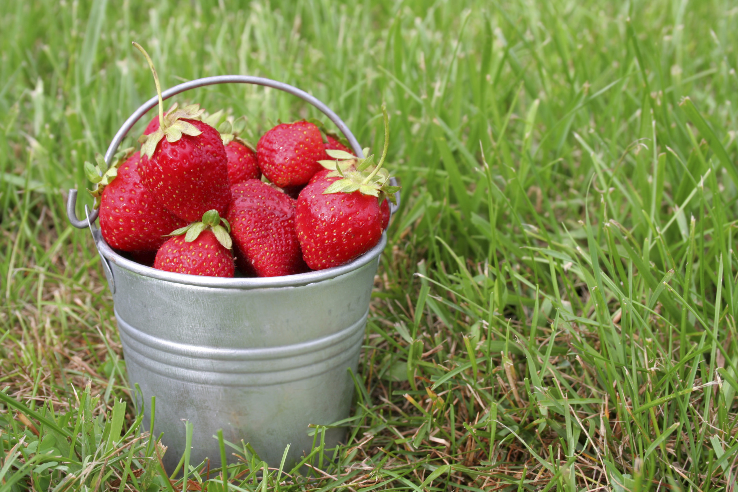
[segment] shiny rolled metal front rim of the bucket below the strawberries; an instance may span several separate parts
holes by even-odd
[[[368,265],[376,260],[384,246],[387,246],[387,232],[382,232],[382,238],[368,252],[365,252],[355,260],[345,263],[341,266],[325,268],[323,270],[307,271],[302,274],[283,275],[280,277],[205,277],[200,275],[179,274],[173,271],[159,270],[151,266],[145,266],[134,260],[128,260],[112,249],[100,229],[95,231],[95,242],[100,254],[113,263],[118,268],[139,274],[142,277],[148,277],[155,280],[162,280],[169,283],[179,283],[182,285],[192,285],[195,287],[211,287],[211,288],[237,288],[237,289],[254,289],[254,288],[279,288],[279,287],[300,287],[311,283],[323,282],[331,280],[340,275],[351,273],[358,270],[362,266]],[[111,272],[112,273],[112,272]]]

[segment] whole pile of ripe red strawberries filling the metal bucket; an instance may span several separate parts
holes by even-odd
[[[379,243],[398,190],[382,168],[386,111],[376,164],[304,120],[275,126],[253,148],[238,137],[243,120],[218,125],[223,111],[165,114],[153,63],[134,45],[154,72],[159,116],[140,151],[123,150],[110,167],[100,156],[85,163],[111,247],[166,271],[275,277],[339,266]]]

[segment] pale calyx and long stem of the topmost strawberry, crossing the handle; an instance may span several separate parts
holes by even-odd
[[[140,44],[134,41],[133,45],[144,55],[144,58],[146,58],[146,62],[148,63],[149,68],[151,68],[151,73],[154,75],[156,95],[159,97],[159,128],[154,131],[153,134],[148,136],[146,142],[144,142],[141,147],[141,153],[151,159],[151,156],[154,154],[154,150],[156,150],[156,145],[158,145],[165,136],[167,137],[167,142],[173,143],[181,139],[182,134],[190,136],[198,136],[201,134],[202,132],[199,131],[195,125],[183,120],[198,119],[200,115],[204,113],[204,109],[200,109],[199,104],[191,104],[179,109],[175,103],[170,111],[165,115],[164,100],[162,99],[162,86],[159,84],[159,75],[156,74],[156,69],[154,69],[154,62],[151,61],[151,57]]]

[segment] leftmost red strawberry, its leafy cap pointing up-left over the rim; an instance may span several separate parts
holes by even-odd
[[[114,249],[133,252],[135,258],[155,252],[166,240],[163,235],[187,222],[168,212],[144,187],[139,176],[141,156],[138,152],[131,155],[132,151],[117,154],[103,176],[105,161],[101,156],[97,157],[97,168],[86,162],[85,170],[89,179],[97,182],[97,190],[91,193],[100,207],[103,238]]]

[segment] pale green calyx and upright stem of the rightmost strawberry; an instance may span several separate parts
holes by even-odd
[[[387,115],[387,108],[382,105],[382,114],[384,115],[384,148],[382,149],[382,157],[378,164],[374,164],[374,155],[370,155],[365,159],[359,159],[345,150],[326,149],[328,156],[336,159],[335,161],[318,161],[326,169],[332,170],[326,177],[341,176],[331,186],[323,191],[323,195],[331,193],[354,193],[359,191],[362,195],[373,195],[379,198],[381,204],[384,198],[396,204],[395,193],[400,189],[399,186],[390,184],[390,173],[382,167],[384,159],[387,157],[387,148],[390,143],[390,125]],[[365,154],[369,153],[369,149],[363,149]]]

